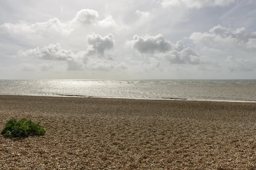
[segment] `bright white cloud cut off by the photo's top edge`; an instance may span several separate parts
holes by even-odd
[[[187,8],[203,8],[205,6],[228,6],[237,0],[158,0],[163,7],[186,6]]]

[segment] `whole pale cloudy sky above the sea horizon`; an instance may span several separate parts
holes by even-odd
[[[1,0],[0,79],[256,79],[256,0]]]

